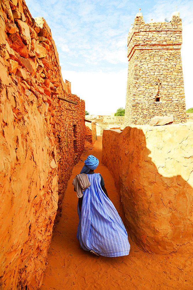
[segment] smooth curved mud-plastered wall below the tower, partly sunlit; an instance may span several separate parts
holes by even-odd
[[[193,239],[193,127],[104,130],[102,162],[124,207],[128,234],[145,251],[168,254]]]

